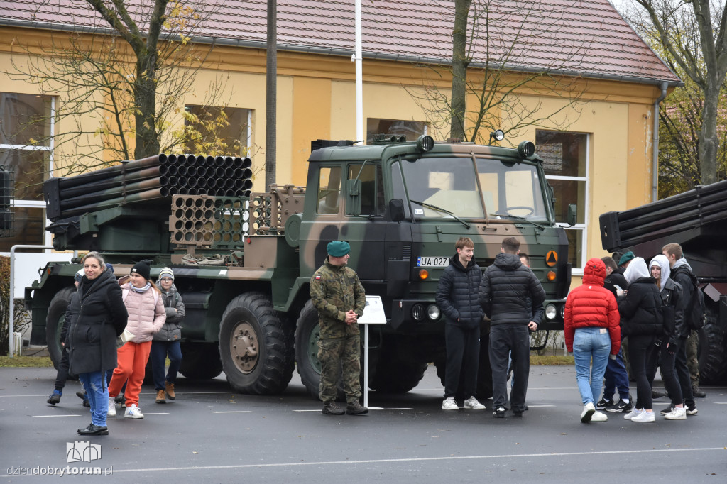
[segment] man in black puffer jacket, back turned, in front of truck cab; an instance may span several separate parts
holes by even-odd
[[[480,281],[479,302],[490,315],[490,366],[492,367],[493,416],[505,417],[507,355],[513,353],[515,385],[510,408],[515,416],[526,409],[525,394],[530,372],[529,331],[542,320],[545,291],[534,273],[520,262],[520,241],[502,241],[501,253],[487,267]],[[528,302],[530,299],[530,302]]]

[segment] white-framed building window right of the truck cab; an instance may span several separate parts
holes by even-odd
[[[535,132],[537,154],[543,159],[545,178],[555,193],[555,221],[566,227],[569,262],[574,274],[582,274],[586,262],[588,223],[588,135],[546,131]],[[577,223],[566,223],[568,206],[577,203]]]

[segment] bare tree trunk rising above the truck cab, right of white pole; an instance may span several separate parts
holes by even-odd
[[[452,92],[451,92],[451,125],[449,136],[465,138],[465,115],[467,65],[467,17],[470,15],[472,0],[454,1],[454,30],[452,31]]]

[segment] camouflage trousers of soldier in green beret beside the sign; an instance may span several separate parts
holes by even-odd
[[[361,397],[361,337],[348,334],[342,338],[319,340],[318,360],[321,362],[321,400],[332,402],[336,399],[340,375],[346,401],[358,401]]]

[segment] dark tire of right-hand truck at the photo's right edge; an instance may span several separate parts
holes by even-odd
[[[699,330],[699,383],[720,384],[727,375],[725,328],[719,323],[719,307],[707,303],[706,319]]]

